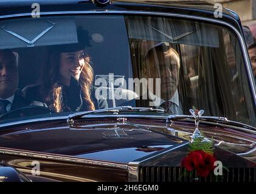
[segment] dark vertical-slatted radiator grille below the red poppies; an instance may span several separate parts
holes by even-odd
[[[185,171],[184,167],[139,167],[139,182],[256,182],[256,168],[223,169],[223,175],[206,178]]]

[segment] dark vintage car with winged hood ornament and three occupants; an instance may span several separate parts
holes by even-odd
[[[256,181],[256,84],[235,12],[175,0],[0,10],[0,182]],[[184,165],[195,136],[223,173]]]

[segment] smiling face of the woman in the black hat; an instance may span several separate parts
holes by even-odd
[[[80,78],[80,73],[85,66],[85,52],[61,53],[60,55],[60,75],[64,85],[69,85],[71,76],[75,79]]]

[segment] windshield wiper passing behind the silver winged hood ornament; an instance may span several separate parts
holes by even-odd
[[[166,122],[178,121],[183,119],[193,119],[195,120],[194,116],[192,115],[168,115]],[[207,122],[220,122],[221,124],[227,125],[234,125],[235,127],[243,127],[250,130],[256,130],[256,127],[252,127],[251,125],[246,125],[241,122],[230,121],[226,117],[218,117],[218,116],[201,116],[199,118],[200,121],[207,121]]]

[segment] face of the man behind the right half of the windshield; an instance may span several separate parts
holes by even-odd
[[[161,78],[161,99],[168,101],[176,92],[179,82],[179,58],[174,53],[164,52],[157,55],[158,59],[151,58],[148,78]]]

